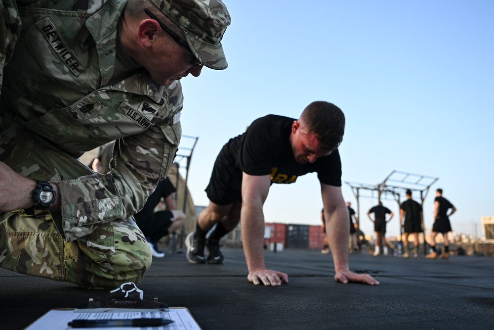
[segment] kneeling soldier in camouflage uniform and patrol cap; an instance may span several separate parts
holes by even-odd
[[[0,0],[0,266],[87,288],[151,264],[132,215],[181,136],[179,80],[225,69],[220,0]],[[115,144],[96,174],[83,152]],[[33,190],[56,192],[33,209]]]

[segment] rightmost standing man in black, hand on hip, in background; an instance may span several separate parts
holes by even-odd
[[[450,214],[448,210],[451,209]],[[436,190],[436,199],[434,199],[434,224],[432,225],[431,233],[431,253],[426,255],[427,259],[435,259],[440,255],[440,259],[448,259],[450,242],[448,241],[448,232],[451,232],[450,216],[456,212],[456,208],[452,203],[443,197],[443,189]],[[441,249],[436,251],[436,235],[443,234],[444,237],[444,252]]]

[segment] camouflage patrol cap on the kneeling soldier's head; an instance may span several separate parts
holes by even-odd
[[[221,0],[151,0],[173,23],[185,32],[194,55],[211,69],[226,69],[221,39],[231,23]]]

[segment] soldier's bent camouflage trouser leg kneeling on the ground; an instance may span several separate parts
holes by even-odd
[[[132,218],[96,226],[67,242],[48,212],[0,213],[0,266],[91,289],[138,283],[151,265],[151,251]]]

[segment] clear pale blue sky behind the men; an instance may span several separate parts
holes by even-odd
[[[458,209],[457,232],[473,234],[472,222],[494,215],[494,1],[224,2],[228,69],[182,80],[183,134],[199,137],[189,171],[196,205],[207,205],[213,162],[230,138],[258,117],[298,118],[325,100],[346,116],[343,182],[377,184],[393,170],[438,177],[425,199],[428,229],[437,188]],[[350,187],[342,190],[356,206]],[[366,234],[375,204],[361,198]],[[384,204],[399,214],[398,203]],[[319,225],[321,208],[309,174],[273,185],[264,214],[266,222]],[[388,235],[397,234],[398,216],[388,224]]]

